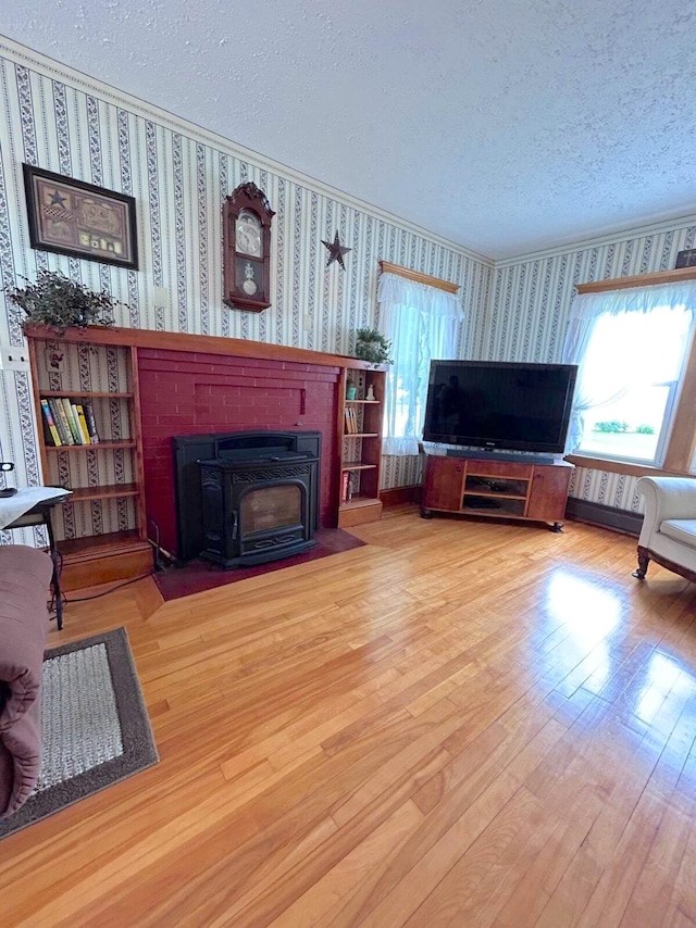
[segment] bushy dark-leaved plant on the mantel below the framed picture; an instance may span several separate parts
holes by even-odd
[[[41,271],[35,284],[27,281],[26,287],[5,287],[4,291],[26,314],[23,328],[42,325],[62,334],[72,327],[113,325],[116,301],[109,293],[96,293],[57,271]]]

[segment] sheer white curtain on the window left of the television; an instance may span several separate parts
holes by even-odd
[[[397,274],[382,274],[380,326],[391,340],[384,454],[418,454],[431,359],[453,359],[463,312],[458,298]]]

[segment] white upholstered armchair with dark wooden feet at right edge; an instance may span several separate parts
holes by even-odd
[[[655,561],[696,582],[696,479],[641,477],[636,489],[645,500],[645,516],[633,576],[644,579]]]

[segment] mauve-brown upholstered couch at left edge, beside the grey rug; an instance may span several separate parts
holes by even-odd
[[[0,545],[0,818],[28,799],[39,776],[52,569],[44,551]]]

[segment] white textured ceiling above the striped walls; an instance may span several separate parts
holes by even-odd
[[[689,0],[0,0],[16,41],[482,254],[696,210]]]

